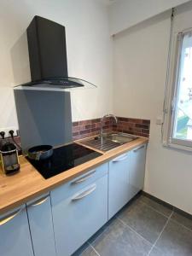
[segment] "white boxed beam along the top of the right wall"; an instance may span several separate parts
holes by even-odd
[[[189,0],[118,0],[110,5],[110,32],[116,34]]]

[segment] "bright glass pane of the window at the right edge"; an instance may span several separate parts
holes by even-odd
[[[183,36],[179,58],[172,137],[192,140],[192,35]]]

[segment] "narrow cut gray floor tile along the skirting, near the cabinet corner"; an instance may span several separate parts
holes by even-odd
[[[146,203],[149,207],[153,207],[154,210],[164,214],[166,217],[170,217],[172,213],[171,207],[163,206],[162,204],[158,203],[157,201],[154,201],[153,199],[150,199],[148,196],[141,195],[139,200]]]

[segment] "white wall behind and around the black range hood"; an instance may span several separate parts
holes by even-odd
[[[17,126],[13,86],[30,81],[26,27],[34,15],[66,26],[68,74],[98,85],[96,90],[72,92],[73,120],[112,112],[112,39],[107,6],[97,0],[1,0],[0,127]]]

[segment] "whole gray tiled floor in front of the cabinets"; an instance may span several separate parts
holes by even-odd
[[[192,256],[192,219],[140,195],[74,255]]]

